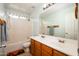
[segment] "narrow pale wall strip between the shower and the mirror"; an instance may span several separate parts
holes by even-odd
[[[39,6],[31,15],[31,19],[33,22],[33,29],[32,29],[32,35],[38,35],[40,33],[40,25],[41,25],[41,20],[40,20],[40,14],[42,12],[42,6]]]

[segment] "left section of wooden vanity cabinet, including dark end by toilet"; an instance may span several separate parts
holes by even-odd
[[[30,53],[33,56],[41,56],[41,43],[31,39]]]

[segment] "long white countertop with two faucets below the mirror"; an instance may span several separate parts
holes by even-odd
[[[65,39],[61,37],[43,35],[44,38],[41,37],[42,35],[38,36],[31,36],[31,39],[34,39],[38,42],[41,42],[51,48],[54,48],[60,52],[63,52],[70,56],[78,56],[78,41],[72,39]],[[59,40],[64,40],[64,43],[60,43]]]

